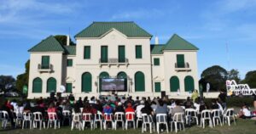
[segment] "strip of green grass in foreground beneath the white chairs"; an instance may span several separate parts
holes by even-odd
[[[90,131],[90,129],[84,129],[84,131],[79,130],[70,130],[69,126],[61,127],[61,129],[42,129],[41,131],[38,129],[35,130],[29,130],[29,129],[15,129],[15,130],[3,130],[0,129],[0,134],[79,134],[79,133],[90,133],[90,134],[119,134],[119,133],[129,133],[129,134],[141,134],[141,128],[137,130],[129,129],[128,131],[123,131],[121,129],[118,129],[117,131],[114,130],[107,130],[107,131],[101,131],[99,129]],[[149,133],[149,132],[148,132]],[[155,133],[155,132],[154,132]],[[169,133],[175,133],[174,131]],[[180,134],[255,134],[256,133],[256,122],[255,120],[236,120],[236,126],[234,123],[231,124],[231,126],[228,126],[225,124],[224,126],[216,126],[213,128],[206,127],[205,129],[202,129],[200,126],[191,126],[191,127],[185,127],[185,131],[178,131],[177,133]]]

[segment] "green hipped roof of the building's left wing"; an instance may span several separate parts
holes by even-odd
[[[54,36],[49,36],[42,42],[39,42],[36,46],[28,50],[28,52],[64,52],[64,48],[61,46]]]

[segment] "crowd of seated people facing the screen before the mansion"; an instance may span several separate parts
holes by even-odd
[[[171,107],[170,110],[168,107]],[[73,95],[69,95],[67,98],[39,98],[36,101],[26,100],[21,103],[16,101],[6,101],[0,105],[0,110],[6,110],[9,113],[9,118],[14,120],[16,118],[15,113],[33,113],[41,112],[44,119],[47,120],[47,113],[56,113],[59,120],[63,120],[62,111],[68,110],[71,113],[80,114],[96,114],[102,112],[102,114],[114,114],[115,112],[134,112],[136,118],[142,118],[142,114],[151,115],[155,119],[156,114],[167,114],[168,119],[172,120],[172,116],[175,113],[183,112],[184,109],[196,109],[199,113],[204,109],[221,109],[221,104],[218,103],[217,99],[212,99],[212,103],[207,105],[198,98],[195,102],[191,98],[187,98],[185,102],[179,100],[168,99],[168,98],[136,98],[133,100],[132,97],[116,97],[115,100],[108,98],[96,99],[95,97],[84,99],[79,98],[76,100]],[[247,117],[247,111],[243,110],[243,115]],[[12,126],[15,126],[15,122],[11,122]]]

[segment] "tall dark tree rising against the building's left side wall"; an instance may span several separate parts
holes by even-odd
[[[29,64],[30,64],[30,60],[27,60],[25,64],[25,68],[26,68],[25,73],[17,76],[16,88],[19,91],[22,91],[22,88],[24,86],[28,86]]]

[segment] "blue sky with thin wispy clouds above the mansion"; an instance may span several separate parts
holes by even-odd
[[[0,75],[23,73],[27,50],[49,35],[135,21],[160,43],[177,33],[199,47],[199,75],[218,64],[243,78],[256,67],[255,8],[256,0],[0,0]]]

